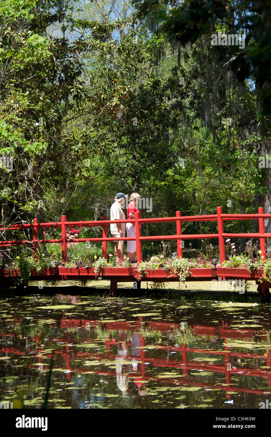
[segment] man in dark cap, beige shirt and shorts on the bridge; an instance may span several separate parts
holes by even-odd
[[[128,197],[127,194],[116,194],[115,202],[110,209],[110,220],[125,220],[125,214],[121,205],[125,202],[126,197]],[[121,238],[125,236],[125,223],[111,223],[110,232],[112,237]],[[115,253],[117,253],[117,260],[123,260],[123,241],[116,241]]]

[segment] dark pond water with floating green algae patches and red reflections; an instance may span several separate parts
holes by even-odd
[[[0,400],[43,408],[259,409],[270,304],[179,294],[0,300]],[[53,361],[52,361],[52,355]]]

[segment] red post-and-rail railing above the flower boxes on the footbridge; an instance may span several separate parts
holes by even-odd
[[[34,253],[37,253],[39,243],[62,243],[62,262],[67,261],[67,227],[91,227],[102,226],[103,236],[97,238],[73,238],[69,239],[69,243],[75,242],[102,242],[103,243],[103,257],[107,258],[107,242],[108,241],[128,241],[135,240],[137,247],[137,262],[142,261],[141,241],[154,241],[154,240],[176,240],[178,258],[182,257],[182,240],[185,239],[209,239],[217,238],[219,240],[220,250],[220,263],[226,260],[225,256],[225,242],[224,238],[257,238],[260,239],[260,248],[264,260],[266,259],[266,247],[265,239],[271,238],[271,232],[264,232],[264,219],[271,218],[271,214],[264,214],[264,208],[258,208],[258,214],[223,214],[222,207],[218,206],[217,213],[213,215],[193,215],[193,216],[181,216],[180,211],[176,211],[175,217],[158,217],[158,218],[139,218],[139,213],[135,212],[134,219],[129,220],[108,220],[106,216],[103,220],[97,221],[80,221],[80,222],[67,222],[66,216],[62,215],[61,222],[48,222],[38,223],[38,220],[34,218],[33,223],[26,223],[20,225],[10,225],[8,227],[0,227],[0,232],[24,230],[33,228],[33,240],[0,240],[1,247],[7,246],[19,246],[24,244],[33,244]],[[252,220],[257,219],[259,222],[259,232],[248,233],[232,233],[224,232],[223,222],[234,220]],[[159,223],[159,222],[176,222],[176,235],[158,235],[158,236],[141,236],[140,224],[141,223]],[[182,234],[182,222],[217,222],[218,232],[216,234]],[[112,238],[107,236],[107,228],[110,223],[134,223],[135,224],[135,238],[134,237],[121,237]],[[38,239],[39,228],[61,228],[61,239]]]

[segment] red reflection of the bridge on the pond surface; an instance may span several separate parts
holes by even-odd
[[[14,319],[15,323],[21,324],[21,318]],[[38,321],[37,321],[38,322]],[[8,323],[8,322],[7,322]],[[32,320],[32,323],[35,323],[34,320]],[[48,326],[54,326],[55,324],[47,323]],[[249,354],[244,352],[232,352],[230,349],[230,342],[227,340],[251,340],[254,338],[255,335],[261,335],[262,340],[268,340],[267,331],[261,331],[259,329],[229,329],[227,326],[227,323],[222,323],[222,326],[192,326],[191,327],[191,333],[193,336],[208,336],[209,340],[210,338],[216,338],[220,340],[220,344],[223,343],[223,349],[220,346],[219,350],[215,349],[200,349],[200,348],[191,348],[187,347],[186,343],[182,343],[178,347],[176,346],[161,346],[159,344],[155,344],[155,351],[166,351],[167,354],[172,353],[180,353],[182,355],[182,359],[176,359],[172,360],[164,357],[151,357],[148,354],[148,345],[145,343],[145,337],[144,333],[142,332],[141,328],[143,325],[143,318],[139,317],[139,319],[135,322],[106,322],[106,321],[98,321],[98,320],[82,320],[82,319],[61,319],[60,320],[60,328],[62,329],[96,329],[98,327],[102,327],[103,329],[106,329],[106,331],[119,331],[123,338],[125,338],[125,344],[126,347],[130,348],[132,346],[131,341],[127,341],[127,333],[126,331],[131,332],[130,337],[133,335],[133,333],[139,333],[140,342],[137,345],[138,354],[126,354],[123,358],[125,359],[125,362],[127,360],[131,361],[131,364],[136,361],[137,357],[140,361],[138,361],[138,364],[140,364],[140,369],[137,369],[137,372],[125,372],[125,377],[130,378],[131,380],[134,379],[134,381],[138,381],[138,377],[140,378],[141,383],[145,383],[148,381],[158,382],[159,384],[166,384],[166,383],[175,383],[180,379],[178,382],[179,385],[187,385],[187,386],[193,386],[193,387],[202,387],[202,388],[212,388],[212,389],[218,389],[225,391],[226,399],[231,399],[231,393],[232,392],[244,392],[244,393],[253,393],[258,395],[263,394],[271,394],[271,355],[270,355],[270,345],[267,345],[266,348],[263,345],[263,349],[266,349],[265,354]],[[144,325],[144,329],[153,330],[155,332],[161,332],[161,333],[168,333],[168,331],[174,331],[179,330],[180,326],[176,323],[161,323],[161,322],[146,322]],[[189,327],[190,328],[190,327]],[[181,332],[181,331],[180,331]],[[2,333],[3,337],[16,337],[13,333]],[[54,340],[59,343],[64,343],[65,345],[65,351],[63,350],[54,350],[55,357],[62,357],[65,359],[66,366],[63,368],[63,370],[70,370],[71,372],[66,373],[67,380],[70,380],[72,377],[72,373],[86,373],[89,372],[88,370],[82,370],[82,368],[76,368],[76,366],[72,365],[72,358],[77,359],[86,359],[91,357],[91,359],[94,361],[97,361],[97,365],[99,364],[99,361],[103,359],[109,359],[109,360],[116,360],[118,358],[118,354],[114,354],[112,347],[113,346],[120,346],[121,341],[117,341],[116,338],[113,337],[113,333],[109,333],[106,340],[101,340],[101,344],[103,343],[106,346],[105,352],[82,352],[82,351],[76,351],[76,347],[80,347],[80,344],[78,345],[70,345],[71,334],[69,332],[65,333],[65,339],[63,338],[55,338]],[[43,353],[43,347],[39,346],[40,344],[40,336],[30,337],[32,341],[36,342],[36,347],[34,348],[34,351],[37,354],[43,354],[47,358],[52,357],[52,353]],[[48,339],[49,340],[49,339]],[[84,339],[85,343],[92,343],[93,340],[86,340]],[[228,344],[227,344],[228,343]],[[236,347],[236,346],[234,346]],[[242,344],[239,346],[242,347]],[[84,346],[82,346],[84,348]],[[97,349],[95,347],[94,349]],[[153,348],[152,348],[153,349]],[[6,353],[6,354],[16,354],[20,356],[24,356],[25,353],[33,352],[33,349],[27,348],[25,351],[20,350],[16,347],[0,347],[0,353]],[[147,353],[147,356],[146,356]],[[197,355],[199,354],[199,358],[195,360],[194,357],[189,357],[189,354]],[[224,356],[224,363],[223,364],[208,364],[204,362],[204,360],[200,360],[200,355],[206,354],[210,356]],[[265,361],[265,369],[259,368],[259,364],[254,364],[254,367],[256,368],[247,368],[240,366],[239,368],[235,367],[231,363],[231,357],[238,357],[240,358],[250,358],[250,359],[261,359]],[[45,370],[48,370],[50,368],[49,364],[43,364],[42,357],[37,356],[38,363],[42,364],[42,368]],[[5,363],[7,364],[7,363]],[[179,369],[182,371],[182,374],[180,375],[174,375],[173,378],[167,377],[157,377],[157,376],[151,376],[148,375],[148,364],[151,364],[154,367],[158,368],[171,368],[171,369]],[[86,365],[86,367],[88,367]],[[91,369],[93,369],[93,365],[90,366]],[[93,373],[97,375],[109,375],[109,376],[118,376],[117,375],[117,368],[116,371],[109,371],[106,369],[101,368],[100,370],[97,370],[94,364],[94,370]],[[258,368],[257,368],[258,367]],[[37,366],[34,364],[28,365],[28,368],[31,369],[37,369]],[[58,366],[54,366],[53,368],[58,368]],[[189,370],[197,370],[197,371],[209,371],[209,372],[219,372],[225,374],[225,384],[218,384],[213,385],[212,383],[208,382],[198,382],[195,381],[195,379],[191,378],[189,376],[188,371]],[[267,388],[262,389],[254,389],[254,388],[240,388],[236,387],[236,385],[231,385],[231,377],[232,375],[244,375],[244,376],[250,376],[250,377],[259,377],[259,378],[266,378],[267,380]],[[200,377],[200,373],[199,373]]]

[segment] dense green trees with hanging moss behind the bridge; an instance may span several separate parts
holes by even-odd
[[[271,213],[270,19],[268,1],[0,0],[2,224],[110,216],[119,191],[152,199],[142,217]]]

